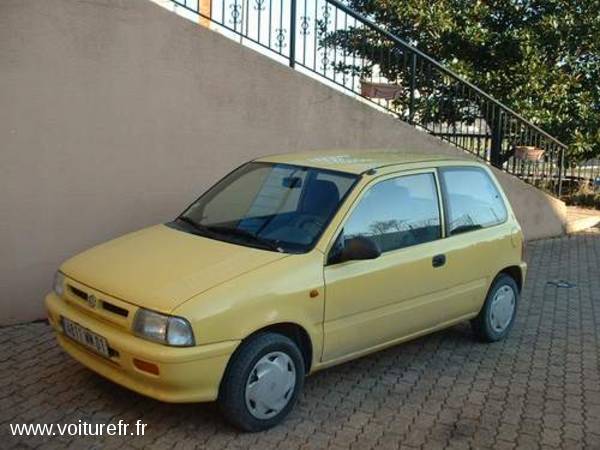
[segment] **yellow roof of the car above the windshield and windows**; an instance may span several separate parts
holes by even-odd
[[[416,165],[427,166],[438,162],[473,162],[466,157],[404,150],[314,150],[264,156],[255,161],[295,166],[315,167],[361,174],[382,167]]]

